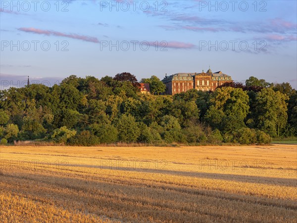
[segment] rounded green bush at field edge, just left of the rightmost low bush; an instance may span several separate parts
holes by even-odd
[[[250,128],[240,128],[233,134],[233,141],[240,144],[252,144],[257,142],[256,131]]]

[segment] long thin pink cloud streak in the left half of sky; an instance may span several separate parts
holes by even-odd
[[[82,36],[82,35],[78,35],[78,34],[66,34],[66,33],[36,29],[36,28],[19,28],[18,30],[27,32],[27,33],[44,34],[47,36],[51,36],[51,35],[52,36],[61,36],[61,37],[68,37],[68,38],[76,39],[76,40],[83,40],[86,42],[99,43],[99,40],[96,37]]]

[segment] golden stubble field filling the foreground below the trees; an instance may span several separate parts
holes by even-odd
[[[1,147],[0,222],[297,222],[297,146]]]

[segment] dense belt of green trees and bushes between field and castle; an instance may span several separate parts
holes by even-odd
[[[156,76],[141,82],[149,83],[151,94],[141,94],[130,73],[100,80],[71,75],[52,87],[1,90],[1,144],[265,144],[271,137],[297,136],[297,92],[289,83],[250,77],[214,92],[169,96],[159,95],[165,85]]]

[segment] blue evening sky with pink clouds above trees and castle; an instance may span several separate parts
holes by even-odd
[[[297,89],[297,1],[0,0],[1,89],[222,71]]]

